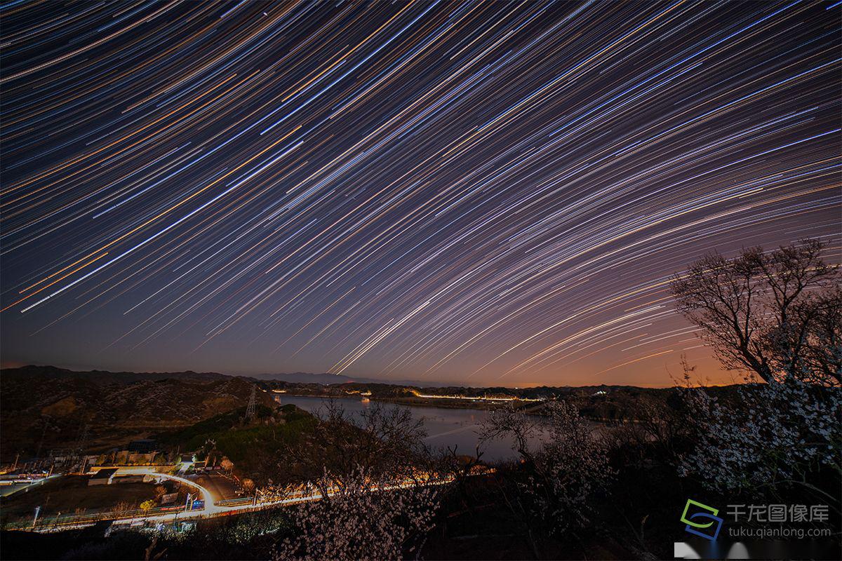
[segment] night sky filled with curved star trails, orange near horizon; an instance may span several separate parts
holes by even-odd
[[[839,3],[5,3],[3,363],[668,385],[839,261]]]

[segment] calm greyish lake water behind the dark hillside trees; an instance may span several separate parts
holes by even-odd
[[[325,400],[320,397],[302,397],[296,395],[280,395],[281,405],[291,403],[301,409],[317,412],[323,408]],[[338,398],[349,413],[359,413],[374,402],[363,401],[360,398]],[[488,411],[479,409],[445,409],[443,407],[413,407],[412,405],[393,405],[384,403],[386,407],[404,407],[410,410],[415,419],[424,421],[424,429],[429,435],[426,444],[434,448],[457,446],[457,453],[473,455],[479,444],[480,424],[488,416]],[[498,439],[485,442],[480,447],[482,460],[493,462],[517,458],[512,450],[512,442]]]

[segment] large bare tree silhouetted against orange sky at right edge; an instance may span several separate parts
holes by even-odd
[[[701,328],[726,368],[766,382],[797,378],[842,384],[839,267],[824,244],[804,240],[726,259],[711,253],[671,283],[676,307]]]

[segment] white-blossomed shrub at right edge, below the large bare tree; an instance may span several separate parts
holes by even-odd
[[[679,461],[714,490],[808,484],[818,468],[839,470],[842,390],[772,379],[738,389],[721,403],[703,388],[682,389],[695,449]]]

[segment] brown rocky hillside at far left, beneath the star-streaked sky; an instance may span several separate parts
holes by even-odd
[[[72,447],[88,427],[88,450],[120,446],[162,428],[188,426],[243,407],[253,380],[198,373],[78,373],[24,367],[0,372],[3,460]],[[260,405],[273,406],[257,390]]]

